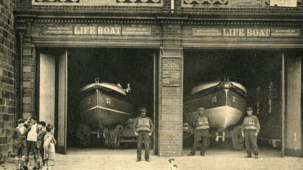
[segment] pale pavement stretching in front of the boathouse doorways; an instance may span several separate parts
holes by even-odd
[[[142,159],[136,162],[136,149],[112,150],[104,148],[69,148],[67,155],[56,154],[54,169],[169,169],[170,157],[152,155],[151,162]],[[189,150],[183,150],[182,157],[174,157],[179,169],[303,169],[303,158],[280,157],[276,149],[261,148],[259,159],[244,158],[245,150],[211,148],[206,156],[187,156]],[[142,150],[142,156],[144,150]],[[29,168],[33,168],[31,156]],[[4,169],[14,169],[13,159],[1,165]]]

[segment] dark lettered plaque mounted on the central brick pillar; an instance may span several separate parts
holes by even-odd
[[[165,60],[162,63],[162,85],[180,86],[180,62],[177,60]]]

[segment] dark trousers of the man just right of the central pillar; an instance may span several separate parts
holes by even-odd
[[[195,155],[197,147],[201,148],[201,153],[205,153],[206,148],[209,145],[209,135],[208,129],[196,130],[194,136],[194,145],[191,148],[191,154]],[[200,144],[201,141],[201,144]]]

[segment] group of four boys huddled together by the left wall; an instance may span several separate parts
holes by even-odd
[[[36,116],[27,121],[18,120],[18,127],[14,129],[13,152],[16,161],[16,170],[28,170],[29,153],[34,154],[33,170],[52,170],[55,159],[56,140],[53,136],[54,126],[43,121],[37,123]],[[43,168],[40,166],[43,163]]]

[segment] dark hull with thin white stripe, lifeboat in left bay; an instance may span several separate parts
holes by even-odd
[[[102,88],[83,91],[79,102],[82,123],[92,128],[112,129],[127,122],[133,114],[133,105],[127,102],[124,95],[114,92]]]

